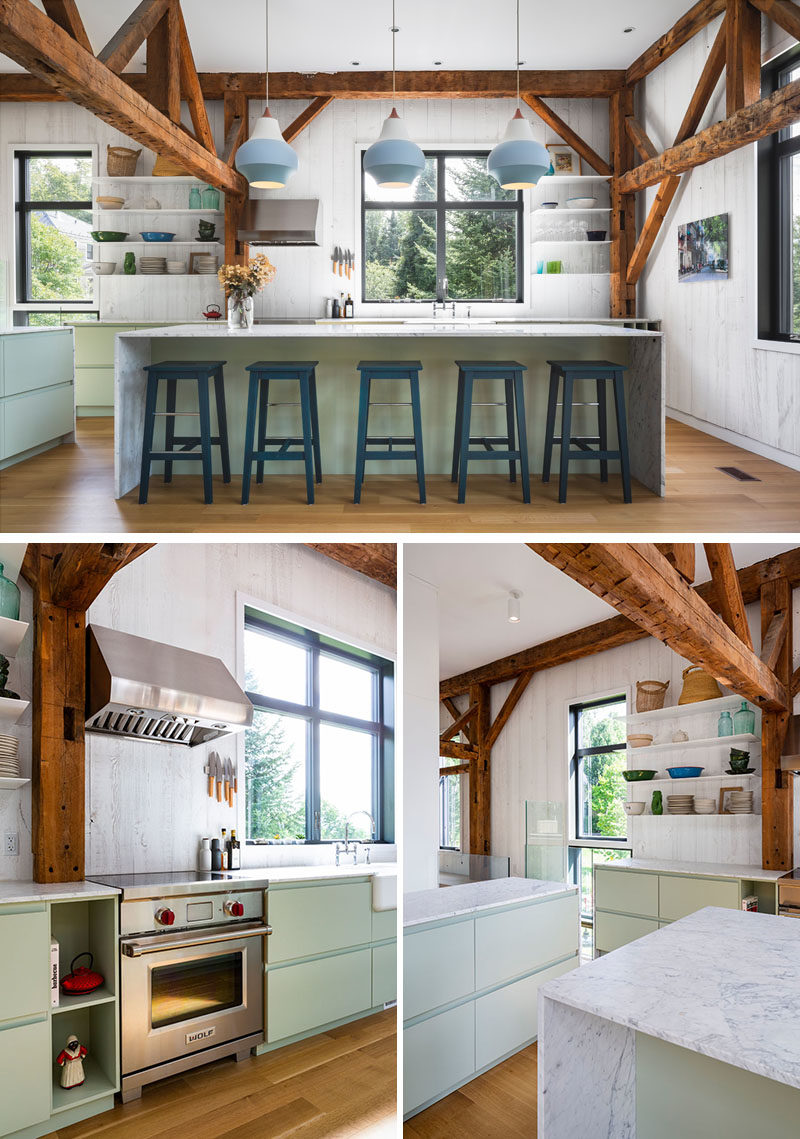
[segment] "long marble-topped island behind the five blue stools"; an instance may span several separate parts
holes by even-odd
[[[458,358],[516,359],[526,364],[525,411],[531,472],[541,470],[547,408],[548,359],[601,359],[627,364],[628,436],[632,477],[653,494],[664,494],[664,342],[660,331],[602,321],[418,321],[405,320],[256,325],[246,331],[227,326],[173,325],[123,333],[116,337],[114,393],[115,495],[122,498],[139,484],[145,408],[145,364],[160,360],[226,360],[226,398],[234,482],[240,477],[247,392],[245,366],[256,360],[319,360],[317,369],[323,469],[352,474],[356,460],[358,374],[360,359],[419,359],[425,469],[450,470],[456,408]],[[393,383],[393,382],[390,382]],[[194,408],[190,385],[179,385],[178,409]],[[182,391],[181,391],[182,388]],[[285,388],[288,392],[288,388]],[[383,390],[382,390],[383,392]],[[408,391],[378,399],[408,401]],[[594,385],[593,385],[594,392]],[[484,399],[483,395],[480,396]],[[163,396],[162,396],[163,399]],[[278,400],[297,399],[294,391]],[[492,394],[490,399],[497,399]],[[181,400],[186,400],[185,403]],[[196,400],[196,395],[195,395]],[[582,408],[575,409],[575,433],[595,434],[594,409],[583,431]],[[497,434],[498,408],[476,408],[473,434]],[[270,434],[296,434],[297,409],[270,412]],[[370,434],[406,434],[406,408],[370,412]],[[190,421],[190,420],[189,420]],[[180,424],[185,426],[186,420]],[[391,425],[391,426],[390,426]],[[491,426],[491,429],[489,427]],[[285,428],[285,429],[284,429]],[[609,417],[610,446],[615,445],[613,415]],[[219,456],[214,449],[214,470]],[[283,466],[283,465],[281,465]],[[583,465],[589,470],[597,464]],[[482,464],[484,473],[507,470],[504,464]],[[615,472],[619,464],[610,465]],[[157,473],[160,464],[154,464]],[[289,469],[295,469],[289,465]],[[296,467],[301,469],[300,465]],[[409,474],[407,462],[373,462],[369,472]],[[197,474],[196,464],[175,464],[177,473]],[[536,493],[536,491],[534,491]]]

